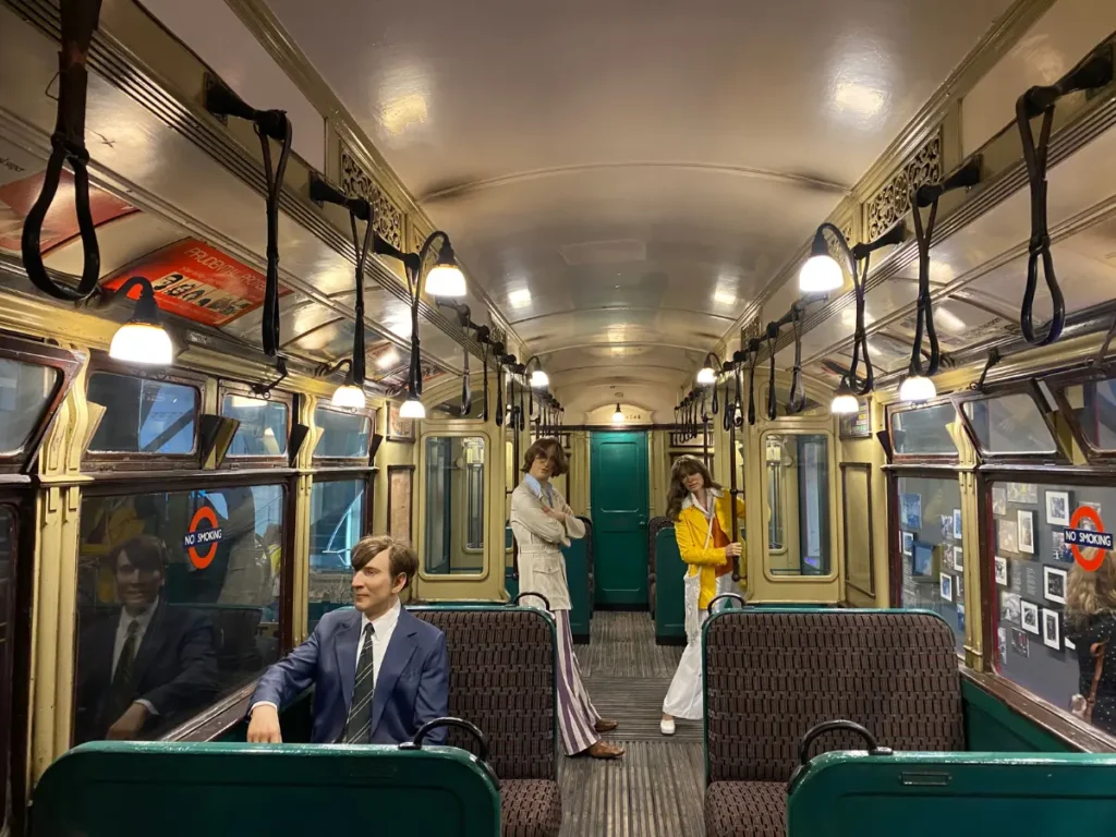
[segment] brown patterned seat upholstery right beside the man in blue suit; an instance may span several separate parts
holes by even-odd
[[[415,608],[445,634],[450,714],[488,737],[489,763],[500,777],[506,837],[556,836],[561,827],[555,725],[555,636],[539,610],[506,607]],[[475,752],[451,729],[452,747]]]

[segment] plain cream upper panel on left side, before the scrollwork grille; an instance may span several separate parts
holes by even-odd
[[[295,153],[326,170],[325,118],[224,0],[142,0],[142,6],[249,105],[286,110]]]

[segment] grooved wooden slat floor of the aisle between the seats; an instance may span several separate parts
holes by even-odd
[[[593,642],[578,645],[597,710],[620,722],[619,761],[561,757],[562,837],[703,837],[701,721],[658,731],[663,698],[682,648],[657,646],[646,613],[597,613]]]

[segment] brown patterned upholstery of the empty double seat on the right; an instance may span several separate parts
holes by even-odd
[[[704,676],[710,837],[783,834],[798,742],[822,721],[893,750],[965,749],[953,633],[932,615],[728,612],[706,628]],[[856,749],[837,732],[814,754]]]

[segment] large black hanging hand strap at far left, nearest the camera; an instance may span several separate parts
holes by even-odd
[[[97,289],[100,249],[89,209],[89,152],[85,147],[86,93],[88,90],[89,44],[97,30],[100,0],[61,0],[61,49],[58,51],[58,109],[50,135],[50,160],[42,176],[42,190],[23,221],[21,249],[23,267],[36,288],[70,302],[85,299]],[[58,192],[62,165],[74,170],[74,209],[81,237],[81,278],[77,288],[56,282],[42,263],[42,223]]]

